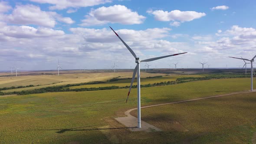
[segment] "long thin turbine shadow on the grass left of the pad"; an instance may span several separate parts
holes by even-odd
[[[86,127],[79,127],[86,128]],[[121,127],[121,128],[88,128],[88,129],[76,129],[76,128],[65,128],[65,129],[46,129],[39,131],[56,131],[58,134],[62,134],[66,131],[95,131],[95,130],[112,130],[112,129],[127,129],[127,128],[137,128],[137,127]]]

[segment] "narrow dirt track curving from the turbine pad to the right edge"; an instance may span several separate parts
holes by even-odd
[[[208,96],[208,97],[203,97],[203,98],[193,98],[193,99],[189,99],[189,100],[183,100],[183,101],[174,101],[174,102],[168,102],[168,103],[164,103],[164,104],[157,104],[157,105],[148,105],[148,106],[143,106],[141,108],[150,108],[150,107],[156,107],[156,106],[161,106],[161,105],[170,105],[170,104],[177,104],[177,103],[182,103],[182,102],[187,102],[187,101],[196,101],[196,100],[201,100],[201,99],[207,99],[207,98],[217,98],[217,97],[223,97],[223,96],[228,96],[228,95],[235,95],[235,94],[243,94],[243,93],[250,93],[252,91],[242,91],[242,92],[235,92],[235,93],[230,93],[230,94],[224,94],[224,95],[214,95],[214,96]],[[255,90],[253,91],[255,92]],[[127,115],[127,117],[123,117],[122,121],[118,120],[118,122],[120,122],[121,124],[126,123],[127,120],[137,120],[136,117],[132,116],[130,114],[131,111],[136,110],[137,108],[132,108],[129,109],[128,111],[125,111],[125,115]],[[115,118],[116,119],[116,118]],[[141,120],[142,121],[142,120]],[[131,122],[131,121],[130,121]],[[133,128],[134,129],[134,128]],[[148,129],[148,128],[144,128],[144,129]],[[134,130],[133,130],[134,131]]]

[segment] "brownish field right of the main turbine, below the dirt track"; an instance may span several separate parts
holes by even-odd
[[[251,143],[256,132],[255,95],[143,108],[141,118],[167,134],[158,137],[159,143]],[[132,114],[136,115],[136,111]]]

